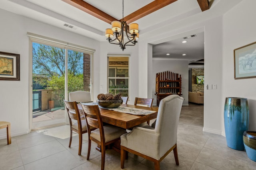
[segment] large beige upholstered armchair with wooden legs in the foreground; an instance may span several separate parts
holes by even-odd
[[[159,104],[155,128],[145,125],[134,127],[121,136],[121,168],[124,168],[126,151],[142,156],[160,170],[160,162],[172,150],[177,165],[177,129],[183,98],[174,94],[162,99]]]

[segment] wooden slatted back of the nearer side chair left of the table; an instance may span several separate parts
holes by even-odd
[[[103,128],[102,118],[100,115],[100,109],[98,105],[86,105],[86,103],[81,103],[82,109],[84,111],[84,117],[86,117],[87,125],[95,128]],[[88,126],[88,129],[90,127]]]

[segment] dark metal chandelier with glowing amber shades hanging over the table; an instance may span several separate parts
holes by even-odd
[[[128,26],[127,26],[126,21],[124,21],[124,0],[123,0],[123,18],[122,18],[121,22],[120,21],[112,21],[111,26],[112,26],[112,29],[107,28],[106,32],[105,32],[105,35],[106,35],[109,43],[119,45],[120,48],[124,51],[124,49],[126,49],[126,47],[125,47],[126,45],[135,45],[138,42],[137,41],[139,39],[138,23],[131,23],[129,25],[129,32],[127,32]],[[124,37],[125,37],[124,31],[125,31],[125,35],[128,39],[126,42],[124,42]],[[117,43],[114,43],[113,41],[116,41]]]

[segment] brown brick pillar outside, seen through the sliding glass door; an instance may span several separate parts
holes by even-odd
[[[91,55],[84,53],[84,91],[90,92]]]

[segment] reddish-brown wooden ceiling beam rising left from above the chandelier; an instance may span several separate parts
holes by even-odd
[[[83,0],[62,0],[63,2],[66,2],[102,21],[105,21],[106,23],[111,24],[112,21],[118,21],[116,18],[106,14],[105,12],[99,10],[98,8],[92,6],[91,4],[88,4],[87,2],[84,2]]]

